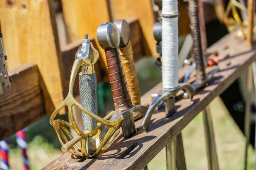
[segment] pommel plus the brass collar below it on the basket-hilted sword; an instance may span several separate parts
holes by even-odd
[[[84,40],[76,52],[75,59],[81,59],[82,61],[82,74],[93,74],[95,72],[94,64],[99,59],[99,52],[93,47],[87,34],[84,34]]]

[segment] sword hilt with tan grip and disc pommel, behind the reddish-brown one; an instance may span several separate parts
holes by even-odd
[[[134,65],[134,56],[130,41],[129,24],[126,20],[115,20],[114,24],[118,28],[120,34],[120,58],[123,70],[125,72],[128,90],[131,95],[131,102],[134,106],[137,105],[137,107],[140,110],[140,113],[143,113],[143,115],[145,116],[148,108],[140,105],[140,88]],[[134,119],[139,119],[141,115],[140,113],[134,112]]]

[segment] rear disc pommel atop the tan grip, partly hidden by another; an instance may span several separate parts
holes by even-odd
[[[119,47],[125,47],[130,40],[130,26],[126,20],[115,20],[114,24],[120,33]]]

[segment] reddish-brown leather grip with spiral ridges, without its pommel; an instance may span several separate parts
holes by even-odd
[[[113,93],[116,111],[126,111],[133,107],[128,91],[125,73],[122,68],[120,54],[117,48],[105,49],[108,74]]]

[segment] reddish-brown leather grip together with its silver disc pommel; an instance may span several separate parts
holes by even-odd
[[[102,23],[97,29],[99,45],[105,49],[108,74],[116,111],[126,111],[132,108],[125,73],[118,51],[120,34],[113,23]]]

